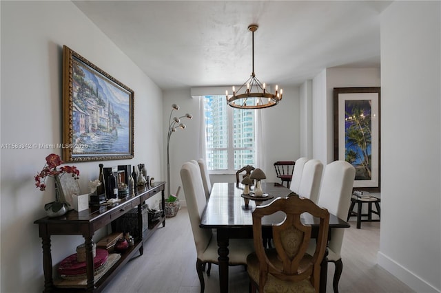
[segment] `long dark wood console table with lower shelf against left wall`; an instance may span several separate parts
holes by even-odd
[[[142,204],[143,202],[161,192],[162,210],[165,210],[164,199],[165,182],[156,182],[153,187],[137,188],[135,195],[129,195],[121,202],[114,206],[90,206],[88,210],[76,212],[70,210],[61,217],[44,217],[34,224],[39,225],[39,236],[43,243],[43,271],[44,271],[44,292],[61,292],[63,290],[72,291],[88,291],[101,292],[105,285],[112,280],[114,276],[127,261],[129,261],[134,254],[143,254],[143,218],[142,218]],[[121,258],[110,267],[100,279],[94,279],[94,261],[92,255],[92,237],[96,230],[105,227],[115,219],[118,219],[125,213],[138,208],[138,239],[135,239],[134,246],[121,254]],[[149,226],[151,232],[156,230],[162,224],[165,226],[165,215],[160,217],[159,221],[154,226]],[[63,285],[63,280],[52,279],[52,254],[50,247],[51,235],[83,235],[85,239],[85,253],[86,253],[86,285]],[[79,282],[80,283],[80,282]]]

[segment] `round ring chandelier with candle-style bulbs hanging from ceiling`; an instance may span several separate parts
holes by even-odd
[[[239,109],[262,109],[272,107],[278,104],[282,100],[283,89],[278,91],[278,85],[276,85],[275,94],[271,94],[266,89],[265,83],[260,83],[260,80],[256,78],[254,74],[254,32],[258,29],[258,25],[252,24],[248,26],[248,30],[253,35],[253,71],[243,85],[241,85],[236,91],[233,87],[233,95],[229,96],[228,91],[225,91],[227,103],[231,107]]]

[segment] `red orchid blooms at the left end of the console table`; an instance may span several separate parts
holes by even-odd
[[[58,166],[63,164],[64,162],[61,160],[60,156],[51,153],[46,157],[46,164],[43,167],[43,170],[41,170],[40,173],[35,175],[35,186],[37,188],[40,188],[40,191],[45,191],[46,184],[45,179],[48,176],[61,176],[65,173],[72,174],[72,177],[74,179],[78,179],[80,175],[80,171],[76,169],[76,166],[61,166],[60,169],[57,169]]]

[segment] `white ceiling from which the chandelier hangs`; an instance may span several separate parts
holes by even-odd
[[[327,67],[380,67],[391,1],[72,1],[161,89],[300,85]]]

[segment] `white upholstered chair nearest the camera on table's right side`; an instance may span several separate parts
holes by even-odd
[[[327,164],[318,195],[318,206],[327,208],[329,213],[340,219],[346,219],[351,204],[355,176],[356,170],[348,162],[334,161]],[[341,250],[344,235],[345,229],[333,229],[328,243],[327,261],[334,263],[336,266],[332,282],[334,292],[338,292],[338,281],[340,281],[343,270]],[[314,250],[315,245],[316,243],[311,241],[308,251]]]

